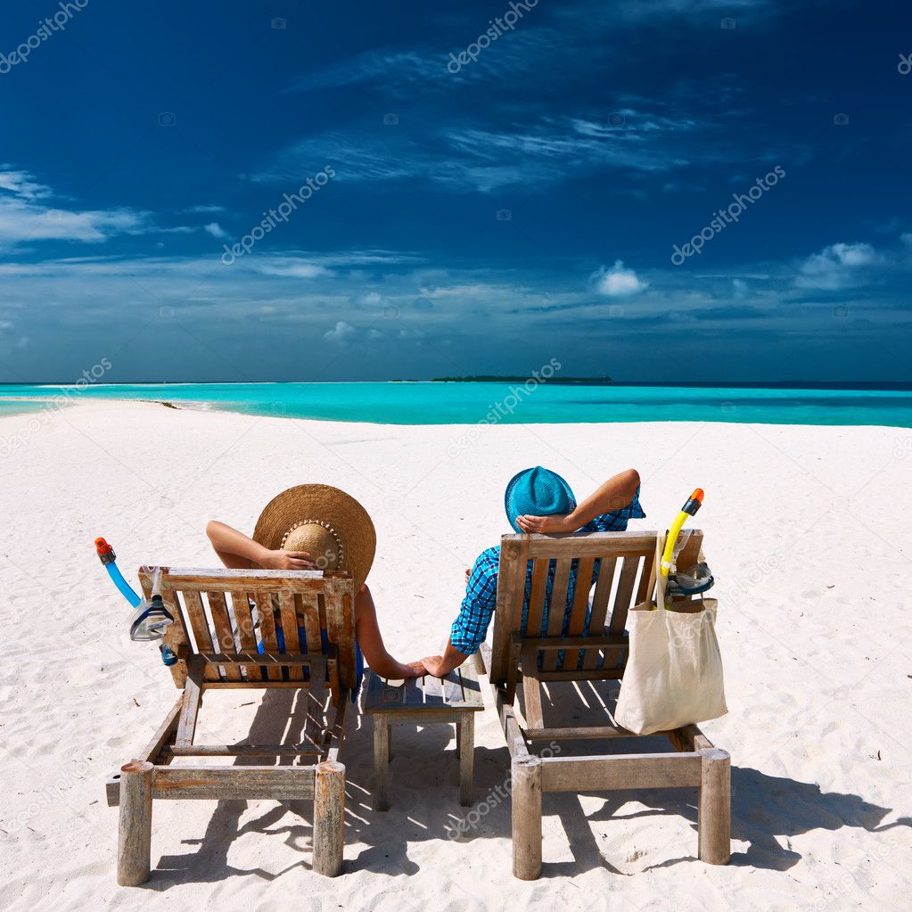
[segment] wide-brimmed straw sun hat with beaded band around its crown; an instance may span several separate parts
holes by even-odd
[[[377,550],[367,510],[328,484],[299,484],[276,494],[256,521],[254,540],[270,550],[306,551],[318,570],[347,570],[356,591]]]

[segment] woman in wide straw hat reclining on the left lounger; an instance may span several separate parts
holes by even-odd
[[[355,637],[368,666],[381,678],[419,678],[421,662],[389,655],[377,608],[365,580],[374,560],[377,534],[367,511],[353,497],[326,484],[300,484],[268,503],[253,538],[211,520],[206,534],[230,569],[347,570],[355,580]]]

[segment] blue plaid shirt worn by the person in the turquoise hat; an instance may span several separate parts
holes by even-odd
[[[583,532],[624,532],[627,529],[627,520],[643,519],[646,513],[639,505],[639,488],[634,495],[634,499],[620,510],[612,513],[602,513],[591,523],[586,523],[577,533]],[[488,634],[488,627],[491,624],[491,618],[494,613],[494,607],[497,604],[497,567],[501,559],[500,545],[495,545],[482,551],[475,560],[472,567],[472,573],[469,575],[469,583],[465,587],[465,598],[462,599],[459,616],[453,621],[450,639],[453,648],[458,649],[464,656],[470,656],[484,642],[484,637]],[[525,628],[526,617],[529,611],[529,590],[532,584],[532,561],[525,575],[525,597],[523,599],[523,629]],[[592,571],[592,579],[589,581],[591,588],[598,575],[598,561]],[[574,561],[570,569],[570,582],[567,586],[567,601],[564,615],[564,625],[570,619],[570,611],[573,607],[574,592],[576,588],[576,570],[578,562]],[[554,584],[554,561],[548,569],[548,582],[544,596],[544,611],[542,612],[542,635],[548,626],[548,610],[551,604],[551,589]],[[586,617],[586,628],[589,625]]]

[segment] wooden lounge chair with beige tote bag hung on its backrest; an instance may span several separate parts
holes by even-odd
[[[693,531],[678,558],[679,569],[693,565],[702,533]],[[693,787],[700,790],[699,855],[724,865],[731,854],[730,758],[713,747],[696,725],[662,731],[677,752],[606,753],[539,757],[536,742],[636,738],[608,716],[597,727],[548,728],[541,686],[554,682],[621,679],[627,661],[627,611],[644,601],[655,558],[656,534],[607,532],[581,535],[504,535],[498,571],[497,609],[490,656],[486,656],[497,710],[512,757],[513,875],[534,880],[542,870],[542,793],[601,792],[616,789]],[[526,568],[533,562],[527,623],[522,624]],[[549,564],[554,582],[547,625],[543,611]],[[567,582],[578,561],[574,601],[565,624]],[[589,586],[598,577],[589,611]],[[617,574],[617,582],[616,582]],[[523,717],[514,707],[522,681]],[[607,711],[607,710],[606,710]],[[656,737],[655,735],[650,737]]]

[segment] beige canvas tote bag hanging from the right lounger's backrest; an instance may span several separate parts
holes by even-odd
[[[686,610],[667,608],[665,579],[658,574],[657,607],[652,606],[664,544],[665,536],[658,535],[647,601],[627,615],[630,652],[615,719],[638,735],[717,719],[729,711],[716,639],[716,599],[694,600]]]

